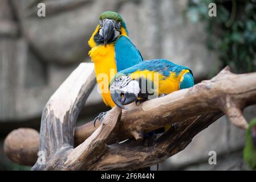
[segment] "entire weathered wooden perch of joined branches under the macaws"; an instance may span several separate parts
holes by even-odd
[[[124,170],[152,166],[183,150],[192,138],[222,115],[235,126],[248,127],[242,110],[256,103],[256,73],[236,75],[226,67],[216,77],[167,96],[113,107],[103,125],[92,122],[75,127],[76,118],[95,84],[93,65],[81,64],[48,101],[42,115],[39,151],[46,164],[35,161],[35,131],[18,129],[5,140],[5,152],[19,164],[32,169]],[[177,124],[162,134],[144,137],[167,124]],[[25,132],[27,131],[27,132]],[[23,147],[23,139],[34,140]],[[125,139],[125,142],[121,142]],[[38,140],[37,140],[38,141]],[[199,149],[198,149],[199,150]],[[28,161],[23,155],[30,155]]]

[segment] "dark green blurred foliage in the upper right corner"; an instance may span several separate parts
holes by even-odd
[[[216,3],[217,16],[208,15],[209,3]],[[256,71],[256,1],[190,0],[187,15],[191,22],[205,22],[206,46],[218,53],[223,66],[233,71]]]

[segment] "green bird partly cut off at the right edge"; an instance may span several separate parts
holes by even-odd
[[[249,127],[246,130],[243,159],[250,169],[256,170],[256,118],[249,123]]]

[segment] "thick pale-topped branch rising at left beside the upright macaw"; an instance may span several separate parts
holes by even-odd
[[[95,83],[94,65],[82,63],[51,96],[40,127],[39,151],[44,159],[38,158],[32,169],[55,169],[63,162],[74,146],[76,118]]]

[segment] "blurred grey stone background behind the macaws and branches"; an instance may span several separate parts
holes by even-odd
[[[46,17],[37,16],[39,2],[46,4]],[[3,140],[18,127],[39,129],[48,98],[79,63],[90,61],[87,41],[105,10],[123,16],[144,59],[186,65],[196,82],[220,71],[216,54],[205,47],[203,24],[188,21],[186,6],[186,0],[0,0],[0,169],[30,169],[7,159]],[[95,88],[78,125],[104,110],[108,108]],[[245,114],[247,119],[255,116],[255,107]],[[160,169],[246,169],[244,134],[222,117]],[[212,150],[217,152],[217,165],[208,164]]]

